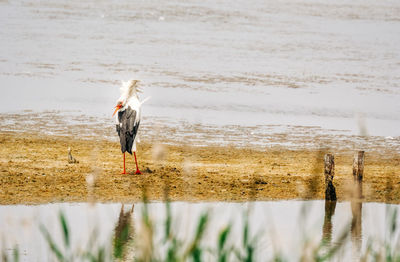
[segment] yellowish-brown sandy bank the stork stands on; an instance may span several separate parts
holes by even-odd
[[[79,163],[69,164],[67,149]],[[60,201],[247,201],[323,199],[318,150],[191,147],[140,144],[142,175],[122,175],[119,144],[27,133],[0,133],[0,204]],[[336,158],[339,201],[351,198],[352,151]],[[128,171],[134,171],[127,155]],[[366,152],[364,200],[400,203],[400,156]]]

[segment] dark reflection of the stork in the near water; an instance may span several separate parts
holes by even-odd
[[[124,212],[124,204],[121,205],[121,211],[118,217],[118,223],[114,229],[114,257],[126,259],[129,245],[133,242],[134,227],[132,223],[132,214],[134,205],[127,212]]]

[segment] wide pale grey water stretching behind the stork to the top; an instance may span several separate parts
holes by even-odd
[[[232,143],[237,127],[270,125],[398,137],[399,13],[388,0],[0,1],[0,112],[112,125],[118,81],[135,77],[153,137],[195,125]]]

